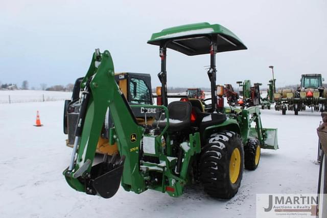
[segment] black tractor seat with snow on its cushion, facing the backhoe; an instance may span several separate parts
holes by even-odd
[[[192,104],[190,102],[173,101],[168,104],[168,112],[169,131],[180,131],[191,126]],[[154,121],[152,126],[157,126],[158,123],[160,128],[165,128],[167,123],[166,117],[162,118],[161,120]]]

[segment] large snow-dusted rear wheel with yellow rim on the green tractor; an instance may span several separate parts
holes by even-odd
[[[224,131],[211,135],[202,148],[200,179],[211,197],[231,199],[241,185],[244,150],[238,134]]]

